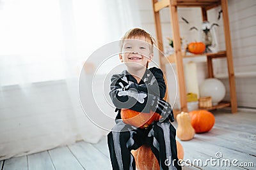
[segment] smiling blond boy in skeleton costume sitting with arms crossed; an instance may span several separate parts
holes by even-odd
[[[178,165],[176,131],[172,108],[163,100],[166,92],[163,72],[147,69],[153,57],[154,41],[143,29],[131,29],[121,41],[121,62],[127,70],[111,78],[109,95],[118,110],[116,125],[108,134],[108,146],[113,169],[136,169],[131,150],[147,143],[159,162],[160,169],[181,169]],[[121,109],[143,113],[155,111],[161,119],[145,129],[124,124]],[[170,121],[169,121],[170,120]]]

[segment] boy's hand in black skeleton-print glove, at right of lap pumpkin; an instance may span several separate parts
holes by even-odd
[[[162,116],[161,120],[159,120],[160,122],[163,122],[166,118],[169,118],[171,122],[174,122],[171,104],[163,99],[154,96],[152,101],[152,110]]]

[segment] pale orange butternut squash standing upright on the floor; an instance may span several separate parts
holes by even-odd
[[[182,141],[189,141],[195,136],[195,129],[191,125],[189,113],[181,112],[177,115],[177,137]]]

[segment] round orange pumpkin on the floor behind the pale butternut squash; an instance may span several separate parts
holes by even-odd
[[[191,117],[191,125],[196,133],[208,132],[215,123],[214,115],[207,110],[195,110],[189,112]]]

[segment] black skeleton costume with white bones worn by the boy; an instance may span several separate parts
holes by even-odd
[[[135,170],[131,150],[136,150],[143,144],[150,146],[160,169],[181,169],[177,162],[176,130],[170,123],[174,121],[173,112],[170,104],[163,100],[165,92],[163,72],[156,67],[146,69],[139,83],[126,70],[112,76],[109,96],[118,111],[116,125],[108,134],[113,169]],[[150,113],[152,110],[162,118],[147,129],[140,129],[122,121],[122,108],[143,113]]]

